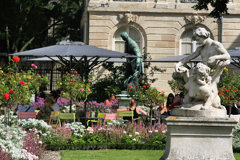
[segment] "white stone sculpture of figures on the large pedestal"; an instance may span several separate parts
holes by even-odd
[[[225,110],[220,103],[217,83],[224,67],[230,64],[230,55],[220,42],[210,38],[210,33],[205,28],[197,28],[193,32],[193,38],[202,45],[193,54],[178,62],[175,67],[174,75],[184,79],[184,87],[188,92],[181,107]],[[201,56],[202,63],[198,63],[191,70],[184,67],[184,64],[198,56]]]

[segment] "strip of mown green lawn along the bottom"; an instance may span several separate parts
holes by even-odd
[[[163,153],[163,150],[65,150],[61,160],[159,160]],[[240,153],[234,156],[240,160]]]

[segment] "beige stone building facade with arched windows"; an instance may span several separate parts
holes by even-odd
[[[222,41],[226,49],[240,46],[240,18],[237,9],[240,0],[230,0],[230,15],[222,21],[208,17],[209,11],[192,9],[195,0],[89,0],[82,23],[84,41],[110,50],[123,51],[120,33],[126,31],[153,59],[193,52],[197,45],[192,41],[195,27],[205,27],[211,38]],[[156,63],[164,73],[153,86],[171,92],[168,80],[172,79],[173,63]]]

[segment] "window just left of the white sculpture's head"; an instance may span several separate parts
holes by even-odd
[[[192,29],[189,29],[183,32],[180,39],[180,55],[183,55],[186,53],[192,53],[200,45],[197,43],[197,41],[192,40],[192,36],[193,36]]]

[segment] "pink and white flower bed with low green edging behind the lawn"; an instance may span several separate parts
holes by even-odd
[[[114,124],[115,123],[115,124]],[[57,137],[46,140],[46,148],[50,150],[64,149],[164,149],[166,144],[165,125],[146,127],[138,124],[114,122],[105,126],[95,126],[84,130],[84,126],[71,128],[72,135],[65,141]],[[76,125],[75,125],[76,126]],[[78,131],[76,131],[78,130]]]

